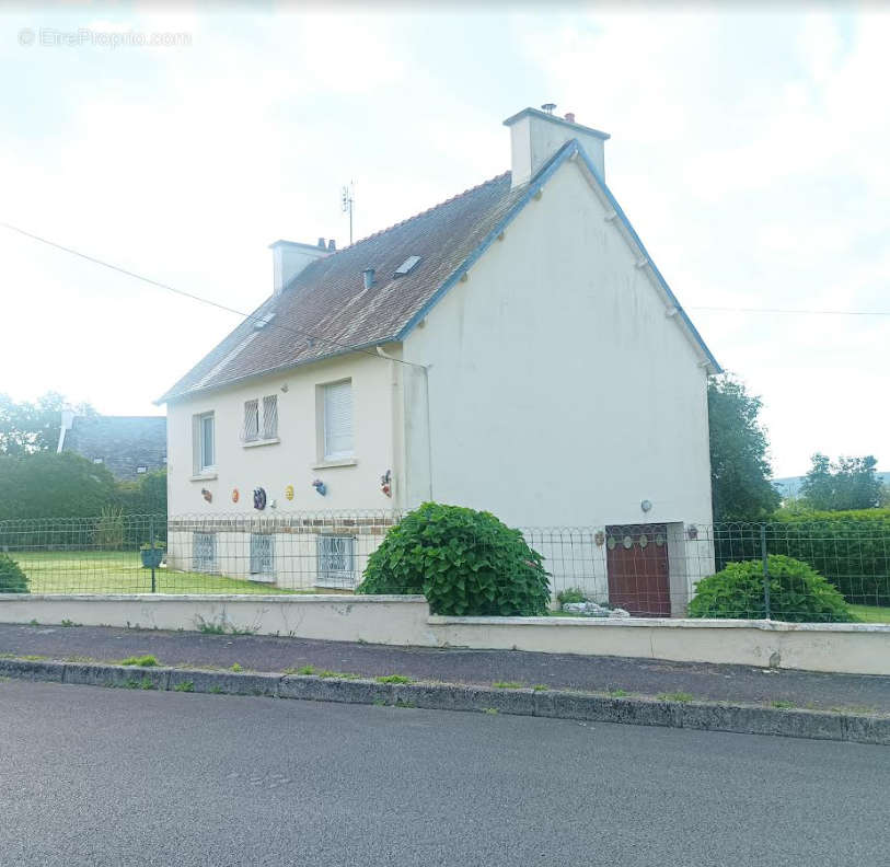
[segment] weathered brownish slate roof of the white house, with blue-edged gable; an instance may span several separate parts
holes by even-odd
[[[604,134],[602,134],[604,135]],[[441,205],[308,265],[199,361],[158,403],[217,389],[334,355],[401,340],[488,248],[567,159],[580,154],[617,217],[646,258],[648,254],[576,139],[567,141],[524,186],[510,189],[510,173],[498,175]],[[394,276],[409,256],[420,261]],[[373,268],[366,289],[362,271]],[[714,372],[720,367],[652,264]],[[274,313],[267,327],[254,323]]]

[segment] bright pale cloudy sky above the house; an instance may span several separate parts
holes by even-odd
[[[890,14],[777,9],[4,7],[0,221],[250,312],[273,241],[348,242],[344,184],[358,239],[508,169],[504,118],[554,102],[611,134],[606,182],[762,396],[775,474],[887,467]],[[0,227],[16,400],[162,413],[238,321]]]

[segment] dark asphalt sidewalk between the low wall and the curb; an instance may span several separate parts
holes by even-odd
[[[747,704],[787,703],[818,710],[890,714],[890,678],[755,669],[741,666],[659,662],[509,650],[430,649],[319,641],[268,636],[97,626],[0,624],[0,656],[117,661],[151,654],[164,666],[284,672],[316,671],[368,678],[404,674],[414,680],[490,686],[496,682],[551,689],[658,696],[687,693],[696,700]]]

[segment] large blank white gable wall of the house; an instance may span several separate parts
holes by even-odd
[[[710,520],[705,370],[605,216],[566,163],[406,338],[431,365],[437,500],[532,527]],[[409,505],[429,495],[421,427]]]

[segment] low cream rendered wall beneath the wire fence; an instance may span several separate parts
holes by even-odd
[[[0,623],[129,626],[890,675],[890,625],[431,616],[411,596],[0,594]]]

